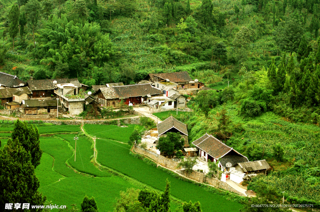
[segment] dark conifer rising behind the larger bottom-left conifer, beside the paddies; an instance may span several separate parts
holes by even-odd
[[[30,152],[31,163],[36,168],[40,164],[42,149],[40,148],[40,134],[33,126],[28,127],[26,123],[19,119],[14,123],[12,140],[18,139],[21,145]]]

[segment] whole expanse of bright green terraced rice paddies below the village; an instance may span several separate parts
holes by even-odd
[[[56,132],[55,127],[59,130],[57,130],[58,134],[40,137],[41,148],[44,152],[41,163],[36,168],[36,175],[40,181],[40,192],[46,195],[53,204],[67,206],[74,203],[80,206],[84,195],[94,196],[99,210],[108,212],[113,211],[120,191],[125,191],[130,187],[142,189],[145,187],[143,185],[163,191],[165,180],[168,179],[171,182],[171,194],[174,197],[182,201],[200,201],[204,212],[239,211],[241,204],[210,193],[192,183],[174,178],[163,170],[130,155],[130,147],[115,140],[127,142],[134,126],[121,128],[114,125],[84,126],[87,133],[100,138],[96,143],[97,161],[132,178],[133,181],[97,169],[91,163],[93,148],[88,138],[80,137],[77,140],[76,161],[74,160],[74,136],[76,134],[59,133],[77,132],[80,130],[79,126],[48,125],[47,128],[44,126],[41,131],[39,129],[40,133],[45,134]],[[0,131],[4,131],[3,129],[0,127]],[[6,136],[10,136],[10,133],[7,133]],[[7,138],[1,139],[2,147],[7,140]],[[176,207],[177,203],[172,202],[171,210],[174,211]]]

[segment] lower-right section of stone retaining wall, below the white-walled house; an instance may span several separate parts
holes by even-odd
[[[243,193],[238,192],[236,189],[232,188],[227,183],[219,180],[218,178],[208,177],[208,176],[206,176],[205,174],[203,174],[201,172],[193,171],[190,174],[188,174],[185,170],[177,170],[177,172],[182,174],[182,175],[184,175],[184,176],[186,176],[186,177],[188,177],[188,178],[194,179],[194,180],[196,180],[198,182],[208,183],[208,184],[210,184],[210,185],[212,185],[214,187],[222,188],[224,190],[231,191],[231,192],[239,194],[239,195],[244,195]]]

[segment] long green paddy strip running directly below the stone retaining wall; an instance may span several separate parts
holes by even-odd
[[[199,186],[189,182],[181,181],[172,175],[148,165],[142,160],[129,154],[129,146],[112,140],[97,140],[98,158],[97,160],[105,166],[135,178],[140,182],[163,190],[165,180],[171,182],[171,194],[183,201],[200,201],[203,212],[239,211],[241,204],[228,201],[224,197],[210,193]],[[219,204],[214,204],[219,202]]]

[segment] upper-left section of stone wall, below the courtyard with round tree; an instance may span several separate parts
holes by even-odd
[[[135,148],[134,148],[134,151],[141,154],[141,155],[146,155],[148,156],[149,158],[153,159],[154,161],[156,161],[156,163],[164,166],[164,167],[167,167],[169,169],[173,169],[173,170],[176,170],[177,169],[177,166],[178,166],[178,162],[176,161],[173,161],[169,158],[166,158],[162,155],[158,155],[154,152],[151,152],[147,149],[144,149],[142,147],[139,147],[137,145],[135,145]]]

